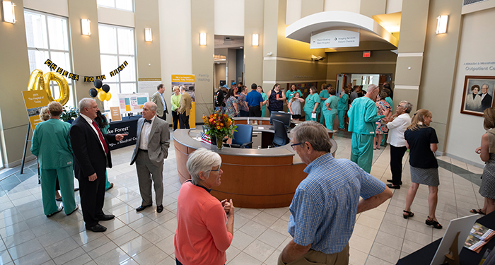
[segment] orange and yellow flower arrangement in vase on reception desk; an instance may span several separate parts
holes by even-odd
[[[233,138],[233,133],[237,126],[234,125],[234,120],[227,114],[221,113],[219,110],[211,113],[209,116],[203,116],[203,122],[207,135],[216,137],[216,147],[223,147],[223,138],[228,136]]]

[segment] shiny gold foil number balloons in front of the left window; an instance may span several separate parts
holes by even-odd
[[[60,97],[57,99],[54,99],[52,96],[50,81],[55,81],[55,83],[59,86]],[[69,84],[60,73],[49,72],[43,74],[43,71],[36,69],[33,73],[31,73],[29,78],[28,90],[45,90],[48,100],[57,101],[62,105],[65,105],[66,102],[69,101]]]

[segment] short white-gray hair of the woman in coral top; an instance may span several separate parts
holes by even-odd
[[[205,148],[199,148],[197,151],[194,151],[194,153],[189,155],[186,163],[187,171],[191,175],[192,184],[198,184],[201,181],[199,172],[204,172],[204,175],[208,178],[211,167],[220,166],[221,163],[222,158],[218,153],[206,150]]]

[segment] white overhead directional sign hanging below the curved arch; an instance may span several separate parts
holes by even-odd
[[[339,47],[359,47],[359,33],[349,30],[329,30],[311,36],[311,49]]]

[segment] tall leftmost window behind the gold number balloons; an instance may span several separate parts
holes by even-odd
[[[24,11],[24,17],[30,72],[35,69],[40,69],[43,73],[50,72],[50,68],[45,64],[45,61],[50,59],[60,68],[72,73],[67,18],[28,10]],[[74,106],[73,81],[69,78],[66,80],[70,91],[66,105]],[[57,83],[52,81],[50,86],[53,98],[59,98]]]

